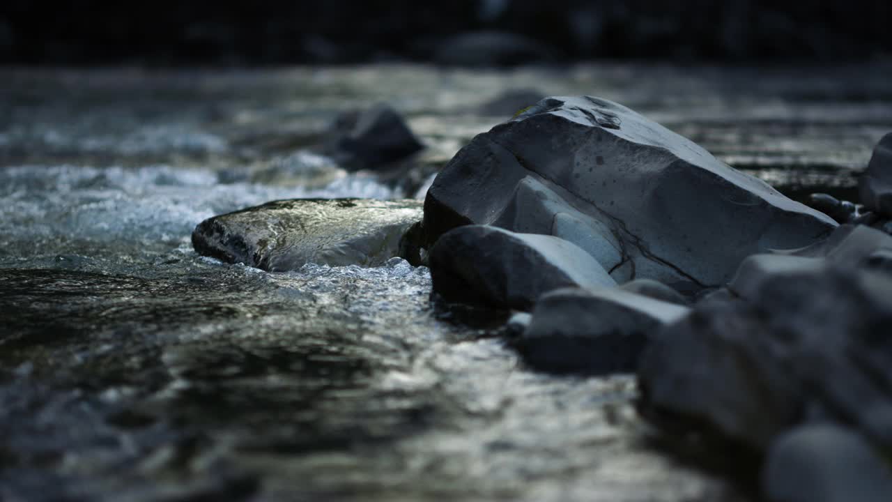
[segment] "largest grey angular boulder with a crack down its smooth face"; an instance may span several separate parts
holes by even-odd
[[[427,242],[465,224],[565,238],[618,282],[717,287],[740,261],[837,223],[596,97],[549,97],[478,135],[425,198]]]

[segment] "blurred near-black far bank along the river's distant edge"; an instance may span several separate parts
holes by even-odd
[[[450,37],[478,30],[529,38],[516,54],[494,61],[509,64],[619,58],[838,62],[892,54],[888,0],[0,4],[0,63],[454,63],[443,56],[453,48]]]

